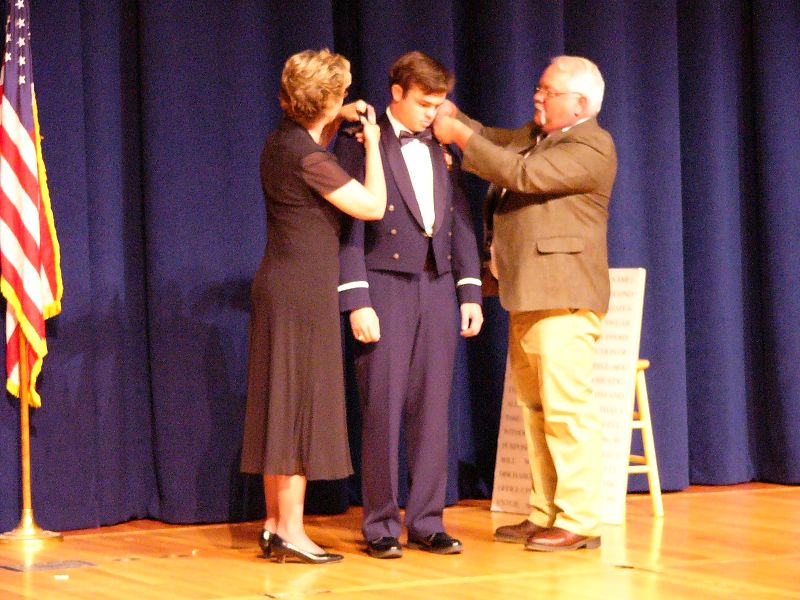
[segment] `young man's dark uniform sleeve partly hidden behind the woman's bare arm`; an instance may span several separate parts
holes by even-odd
[[[358,140],[340,133],[333,152],[353,179],[364,181],[364,147]],[[372,306],[364,261],[364,221],[349,215],[342,216],[338,291],[341,312]]]

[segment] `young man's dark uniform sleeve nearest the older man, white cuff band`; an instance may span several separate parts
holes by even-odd
[[[478,245],[475,241],[469,202],[461,185],[462,174],[457,159],[454,159],[453,169],[449,175],[453,200],[452,270],[456,295],[459,304],[465,302],[481,304],[481,265]]]

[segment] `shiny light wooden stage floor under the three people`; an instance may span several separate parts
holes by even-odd
[[[627,525],[606,527],[600,550],[539,553],[492,541],[519,515],[463,501],[445,512],[463,554],[377,560],[354,507],[307,518],[316,541],[345,554],[329,565],[260,558],[258,522],[135,521],[38,549],[0,545],[0,598],[800,598],[800,487],[693,487],[665,495],[664,509],[654,519],[648,496],[629,496]]]

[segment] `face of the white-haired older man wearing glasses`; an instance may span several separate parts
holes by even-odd
[[[571,91],[570,83],[569,76],[554,65],[542,73],[533,95],[533,120],[545,133],[573,125],[583,117],[586,99]]]

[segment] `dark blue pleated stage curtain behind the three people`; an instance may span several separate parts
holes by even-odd
[[[44,527],[263,513],[258,478],[238,473],[258,155],[283,61],[324,46],[380,109],[394,58],[428,52],[462,109],[501,126],[530,118],[549,57],[597,62],[620,158],[611,263],[648,272],[662,483],[800,482],[796,2],[33,0],[31,25],[65,287],[32,415]],[[467,186],[479,231],[485,184]],[[507,321],[485,309],[459,347],[450,501],[491,491]],[[6,398],[2,530],[19,517],[18,448]],[[351,500],[355,479],[309,495],[317,511]]]

